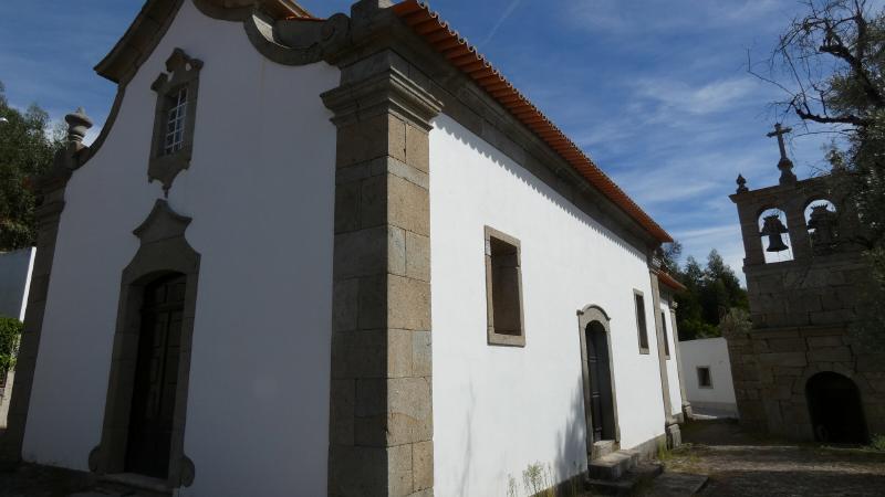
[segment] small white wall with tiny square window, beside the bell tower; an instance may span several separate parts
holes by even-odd
[[[685,374],[685,394],[696,412],[737,416],[735,383],[725,338],[704,338],[679,342],[679,357]],[[712,388],[700,388],[697,368],[709,367]]]

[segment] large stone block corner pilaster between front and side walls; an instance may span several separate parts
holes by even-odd
[[[323,94],[337,126],[330,496],[431,496],[430,119],[382,51]]]

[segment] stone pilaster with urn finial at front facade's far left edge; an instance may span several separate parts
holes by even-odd
[[[55,239],[59,234],[59,220],[64,210],[64,189],[71,173],[80,166],[87,147],[83,145],[86,130],[92,121],[79,109],[65,116],[67,121],[67,145],[59,150],[49,173],[38,184],[40,195],[35,211],[38,234],[37,254],[31,274],[31,287],[28,293],[28,308],[24,314],[24,331],[21,337],[18,362],[15,364],[15,388],[9,404],[9,417],[6,434],[0,437],[0,462],[14,464],[21,461],[24,442],[24,425],[31,403],[37,352],[40,348],[40,336],[43,328],[43,311],[46,307],[46,294],[52,273],[52,261],[55,256]]]

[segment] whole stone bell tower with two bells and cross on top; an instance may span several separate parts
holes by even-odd
[[[853,419],[866,420],[868,431],[853,436],[885,432],[885,389],[871,387],[885,366],[850,334],[868,274],[863,246],[854,243],[862,228],[846,194],[852,177],[834,169],[798,179],[783,141],[788,133],[775,125],[768,134],[780,148],[778,184],[751,190],[739,176],[730,195],[743,237],[752,319],[749,330],[725,337],[740,421],[792,440],[858,442],[841,440],[848,433],[837,421],[844,416],[820,408],[834,405],[825,400],[829,393],[812,393],[819,383],[854,384],[863,403]]]

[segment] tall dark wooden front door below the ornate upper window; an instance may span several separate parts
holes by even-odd
[[[168,475],[184,303],[183,275],[145,288],[126,446],[128,473]]]

